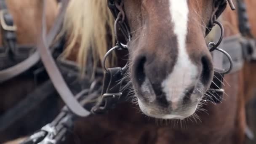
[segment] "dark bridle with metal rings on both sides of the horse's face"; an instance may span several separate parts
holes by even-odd
[[[228,74],[231,72],[232,67],[233,67],[233,61],[229,53],[224,51],[223,49],[219,48],[218,46],[221,44],[223,40],[223,34],[224,34],[224,28],[222,24],[217,21],[218,17],[223,13],[225,8],[227,7],[227,4],[229,3],[229,6],[232,10],[235,10],[235,6],[232,2],[232,0],[213,0],[213,12],[211,14],[211,18],[208,23],[208,27],[205,31],[205,35],[208,35],[209,32],[211,32],[211,29],[217,25],[221,29],[221,35],[217,43],[211,42],[208,44],[209,51],[220,51],[223,53],[225,56],[227,56],[230,67],[227,70],[224,69],[215,69],[214,75],[215,77],[213,78],[213,83],[211,84],[210,88],[208,91],[216,95],[216,99],[213,99],[214,102],[219,103],[222,99],[222,96],[224,94],[224,89],[222,89],[222,82],[223,82],[223,77],[224,75]],[[104,70],[106,73],[109,73],[109,69],[105,67],[105,61],[107,59],[107,56],[109,53],[111,53],[114,50],[127,50],[128,47],[127,45],[123,44],[120,40],[125,39],[125,43],[128,43],[131,41],[131,34],[129,31],[128,24],[125,19],[125,11],[123,10],[123,0],[108,0],[108,6],[109,9],[111,10],[113,16],[115,17],[115,37],[117,41],[117,45],[113,48],[111,48],[105,55],[104,61],[102,65],[104,66]],[[121,33],[122,35],[120,36]],[[125,67],[124,67],[125,69]]]

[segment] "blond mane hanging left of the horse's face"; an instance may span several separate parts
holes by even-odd
[[[68,35],[64,57],[68,57],[79,43],[77,59],[85,72],[88,56],[92,55],[93,65],[102,61],[109,47],[115,43],[113,16],[107,7],[107,0],[71,0],[67,8],[62,32]],[[109,35],[112,35],[109,39]],[[107,64],[109,65],[109,64]]]

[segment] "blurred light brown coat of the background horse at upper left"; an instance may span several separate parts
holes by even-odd
[[[17,43],[36,44],[42,23],[43,0],[6,0],[6,5],[17,27]],[[52,26],[57,15],[57,6],[55,0],[47,0],[48,28]],[[2,41],[1,36],[0,40]]]

